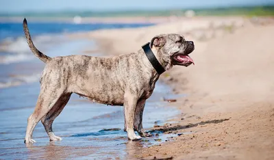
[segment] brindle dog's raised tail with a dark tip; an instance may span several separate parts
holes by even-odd
[[[29,28],[27,27],[27,20],[24,18],[23,21],[23,29],[25,31],[25,36],[27,38],[27,44],[29,44],[29,49],[38,57],[42,62],[49,62],[51,60],[51,57],[44,55],[42,52],[40,52],[38,49],[36,49],[36,46],[34,46],[34,42],[32,42],[32,37],[29,34]]]

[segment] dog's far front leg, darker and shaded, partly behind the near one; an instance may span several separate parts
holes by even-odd
[[[145,129],[142,128],[142,112],[145,109],[145,99],[140,99],[136,105],[134,115],[134,130],[138,132],[141,137],[150,137],[150,133],[146,133]]]

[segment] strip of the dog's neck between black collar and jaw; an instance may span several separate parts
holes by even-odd
[[[164,67],[164,70],[169,70],[170,68],[172,68],[171,58],[170,57],[164,57],[163,56],[164,54],[162,53],[161,49],[159,49],[155,46],[152,46],[151,51],[153,52],[155,57],[158,59],[158,61],[162,65],[162,67]]]

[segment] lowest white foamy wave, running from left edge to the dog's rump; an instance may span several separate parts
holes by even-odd
[[[41,74],[33,75],[12,75],[9,77],[8,81],[0,82],[0,88],[10,88],[22,84],[34,83],[39,81]]]

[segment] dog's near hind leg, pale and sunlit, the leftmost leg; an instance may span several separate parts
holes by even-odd
[[[61,95],[62,92],[58,92],[57,90],[45,90],[45,88],[41,88],[34,113],[27,118],[26,144],[35,142],[34,139],[32,139],[32,133],[34,132],[36,124],[49,113]]]

